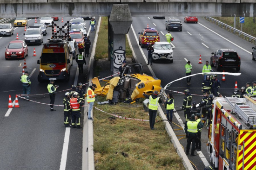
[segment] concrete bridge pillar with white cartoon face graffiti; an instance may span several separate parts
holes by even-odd
[[[114,4],[108,21],[108,51],[110,51],[111,71],[118,72],[125,60],[126,34],[133,21],[128,4]]]

